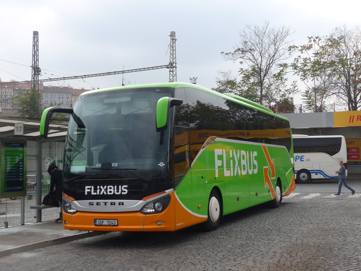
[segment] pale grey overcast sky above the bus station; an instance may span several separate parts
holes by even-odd
[[[360,24],[361,1],[321,0],[62,0],[1,1],[0,78],[31,79],[32,33],[39,31],[39,66],[47,77],[78,76],[169,63],[170,31],[177,38],[177,81],[212,88],[222,59],[245,24],[290,26],[293,44],[327,35],[339,25]],[[10,62],[7,62],[10,61]],[[14,64],[16,63],[16,64]],[[21,65],[19,65],[21,64]],[[45,82],[85,89],[122,84],[122,74]],[[168,82],[168,69],[124,74],[125,82]],[[303,86],[300,85],[302,88]],[[295,96],[295,103],[300,103]]]

